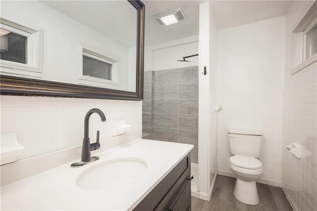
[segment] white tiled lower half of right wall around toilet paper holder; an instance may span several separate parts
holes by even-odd
[[[317,84],[284,93],[283,189],[296,210],[317,210]],[[285,146],[299,143],[304,158]]]

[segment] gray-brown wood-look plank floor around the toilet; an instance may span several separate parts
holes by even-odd
[[[293,211],[281,188],[257,183],[260,203],[246,205],[233,196],[236,179],[217,175],[211,201],[192,197],[192,211]]]

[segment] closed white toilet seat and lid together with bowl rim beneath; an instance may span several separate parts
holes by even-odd
[[[235,155],[230,157],[230,168],[248,175],[260,175],[263,173],[262,162],[257,158],[248,156]]]

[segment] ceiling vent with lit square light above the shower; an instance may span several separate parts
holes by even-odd
[[[170,25],[177,23],[180,20],[183,20],[186,18],[186,15],[182,8],[177,8],[170,10],[168,12],[163,12],[157,15],[152,16],[159,25]]]

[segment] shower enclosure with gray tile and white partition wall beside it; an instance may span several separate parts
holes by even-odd
[[[143,138],[193,144],[192,196],[210,200],[217,175],[217,29],[210,2],[199,7],[198,36],[146,51],[145,69],[156,71],[144,73]]]

